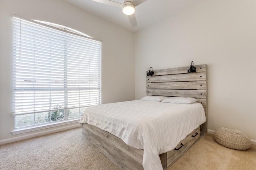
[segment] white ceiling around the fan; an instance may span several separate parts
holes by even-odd
[[[154,23],[170,17],[176,12],[189,8],[200,0],[147,0],[136,6],[135,16],[137,26],[132,27],[128,16],[122,13],[122,8],[95,2],[93,0],[64,0],[86,12],[120,25],[130,31],[136,32]],[[124,0],[112,0],[124,3]]]

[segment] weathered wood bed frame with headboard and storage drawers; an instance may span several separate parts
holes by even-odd
[[[200,128],[180,141],[174,150],[159,155],[163,169],[168,168],[207,133],[207,66],[195,66],[196,73],[187,73],[190,67],[186,66],[154,70],[153,76],[146,76],[147,95],[197,98],[206,114],[206,122]],[[86,140],[120,169],[143,170],[143,150],[130,147],[120,138],[88,123],[82,124],[82,133]]]

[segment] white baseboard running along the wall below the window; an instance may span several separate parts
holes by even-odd
[[[72,124],[69,124],[69,125],[44,129],[44,131],[38,131],[38,132],[34,131],[33,133],[29,133],[27,135],[20,135],[18,137],[12,137],[12,138],[8,138],[8,139],[0,140],[0,145],[6,144],[6,143],[12,143],[12,142],[16,142],[16,141],[21,141],[21,140],[29,139],[29,138],[32,138],[32,137],[48,135],[50,133],[66,131],[66,130],[69,130],[69,129],[74,129],[76,127],[81,127],[81,125],[79,123],[72,123]],[[81,133],[82,133],[82,131],[81,131]]]

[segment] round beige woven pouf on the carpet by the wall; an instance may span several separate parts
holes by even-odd
[[[220,145],[237,150],[251,147],[250,138],[241,131],[220,127],[214,132],[214,139]]]

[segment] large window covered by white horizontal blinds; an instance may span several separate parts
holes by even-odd
[[[14,128],[78,118],[101,104],[101,41],[14,16],[13,44]]]

